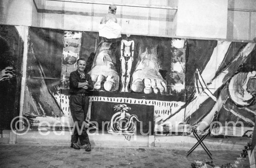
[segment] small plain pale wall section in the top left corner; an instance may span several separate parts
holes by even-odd
[[[0,0],[0,24],[31,26],[32,0]]]

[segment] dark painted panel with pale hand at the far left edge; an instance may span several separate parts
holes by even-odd
[[[16,27],[0,25],[0,129],[19,115],[23,45]]]

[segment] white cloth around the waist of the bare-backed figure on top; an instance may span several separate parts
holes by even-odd
[[[116,39],[121,37],[121,26],[112,20],[108,20],[106,24],[100,24],[99,35],[107,39]]]

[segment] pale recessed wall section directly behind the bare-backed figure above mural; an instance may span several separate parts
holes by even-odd
[[[33,15],[32,26],[98,31],[101,18],[108,13],[108,4],[117,4],[116,17],[123,34],[175,34],[176,10],[170,8],[177,7],[177,0],[129,0],[124,3],[95,0],[93,3],[35,0],[33,13],[36,10],[38,18],[36,20]]]

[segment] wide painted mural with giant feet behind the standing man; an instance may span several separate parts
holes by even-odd
[[[154,129],[155,134],[190,133],[191,128],[205,133],[213,121],[219,121],[216,128],[228,129],[226,122],[237,130],[243,125],[236,136],[253,130],[255,43],[137,35],[99,42],[95,32],[38,28],[31,28],[29,37],[27,100],[34,103],[24,112],[34,115],[34,125],[73,125],[68,78],[76,60],[85,58],[94,81],[88,120],[123,121],[118,129],[98,126],[104,131],[124,134],[122,129],[131,126],[129,133],[135,134],[141,128],[132,125],[139,121],[145,122],[143,132]],[[152,121],[154,127],[147,124]]]

